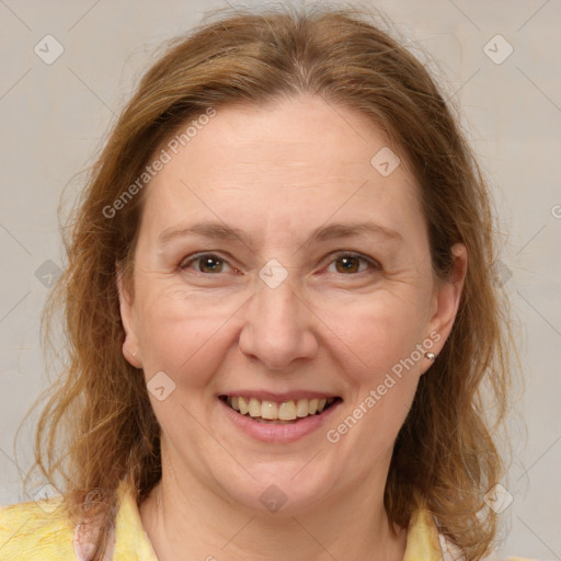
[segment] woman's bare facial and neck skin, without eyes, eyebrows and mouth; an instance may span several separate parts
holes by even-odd
[[[234,428],[216,401],[225,387],[317,388],[344,400],[327,430],[351,414],[415,344],[437,332],[440,340],[432,348],[437,354],[451,329],[463,274],[456,284],[437,287],[413,182],[401,167],[379,175],[369,160],[385,138],[362,115],[339,111],[368,145],[358,144],[345,122],[333,121],[332,108],[319,99],[283,101],[268,111],[224,108],[148,187],[135,296],[121,293],[121,304],[126,346],[138,350],[147,380],[163,370],[176,383],[164,401],[152,399],[162,427],[163,476],[140,506],[160,561],[186,550],[205,559],[226,542],[219,559],[247,559],[248,551],[268,561],[366,559],[373,552],[376,559],[403,557],[407,531],[391,533],[383,488],[393,442],[427,359],[336,444],[325,440],[323,428],[291,444],[257,443]],[[295,157],[301,165],[286,165]],[[353,178],[346,173],[350,160],[357,168]],[[368,184],[348,198],[364,178]],[[180,180],[196,185],[204,205]],[[239,243],[194,238],[158,253],[164,229],[217,217],[255,233],[256,253]],[[403,236],[402,249],[394,255],[389,243],[370,249],[366,242],[331,240],[295,252],[302,234],[328,218],[388,225]],[[176,270],[187,254],[214,253],[215,247],[220,255],[231,253],[243,275],[227,270],[196,279]],[[325,273],[333,266],[323,256],[343,248],[374,259],[379,251],[382,266],[387,261],[391,268],[360,280]],[[459,264],[466,262],[461,245],[454,253]],[[275,289],[256,276],[268,259],[289,271]],[[362,454],[366,449],[369,454]],[[321,454],[299,472],[317,450]],[[288,496],[274,515],[260,502],[272,483]],[[250,519],[240,533],[240,520]],[[255,543],[266,549],[254,551]]]

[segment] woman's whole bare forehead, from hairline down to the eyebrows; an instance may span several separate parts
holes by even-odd
[[[355,110],[302,96],[218,107],[204,122],[176,153],[164,145],[171,160],[150,182],[145,208],[160,229],[208,218],[251,225],[257,236],[335,215],[392,229],[422,221],[403,154]]]

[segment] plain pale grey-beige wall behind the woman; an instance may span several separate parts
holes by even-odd
[[[363,5],[381,9],[414,54],[428,53],[494,190],[504,234],[499,272],[519,318],[526,385],[510,422],[514,462],[503,484],[514,501],[502,513],[503,550],[561,559],[561,3]],[[72,176],[92,163],[156,47],[222,7],[226,0],[0,0],[0,504],[30,499],[21,479],[34,417],[20,433],[18,457],[13,437],[47,385],[38,325],[64,263],[62,188],[69,185],[71,201],[81,185]],[[64,47],[50,65],[34,51],[56,54],[48,34]],[[501,64],[508,45],[489,43],[497,34],[514,48]]]

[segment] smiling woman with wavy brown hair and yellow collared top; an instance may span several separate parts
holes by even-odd
[[[36,454],[64,501],[4,508],[2,559],[482,559],[510,382],[492,229],[433,80],[368,18],[175,42],[50,302],[70,359]]]

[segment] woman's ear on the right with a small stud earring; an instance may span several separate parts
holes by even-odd
[[[432,317],[428,322],[428,333],[439,335],[438,340],[434,337],[435,345],[432,351],[435,355],[442,351],[450,334],[468,271],[468,250],[463,243],[453,245],[451,255],[454,265],[450,277],[435,288],[431,309]]]

